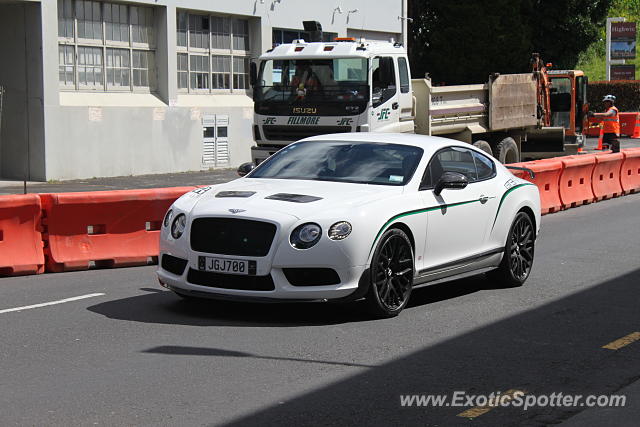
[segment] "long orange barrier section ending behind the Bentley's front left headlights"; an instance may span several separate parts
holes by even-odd
[[[164,215],[190,190],[193,187],[42,194],[47,271],[157,261]]]

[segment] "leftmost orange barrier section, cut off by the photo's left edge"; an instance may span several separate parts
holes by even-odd
[[[37,194],[0,196],[0,276],[44,272]]]

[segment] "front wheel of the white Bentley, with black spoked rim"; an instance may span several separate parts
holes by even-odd
[[[413,274],[411,241],[402,230],[387,230],[371,259],[371,285],[366,297],[369,312],[379,318],[397,316],[409,302]]]

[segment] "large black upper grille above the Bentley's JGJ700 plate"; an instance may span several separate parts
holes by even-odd
[[[191,249],[221,255],[263,257],[276,235],[274,224],[235,218],[196,218]]]

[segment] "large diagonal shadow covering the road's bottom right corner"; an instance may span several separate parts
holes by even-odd
[[[457,286],[464,287],[463,283],[469,285],[462,282]],[[403,408],[400,395],[451,397],[457,390],[489,395],[508,389],[526,390],[533,395],[613,394],[640,377],[640,343],[618,351],[602,348],[639,330],[639,286],[640,270],[636,270],[367,369],[238,419],[232,425],[543,426],[559,423],[586,408],[546,406],[527,411],[521,407],[495,408],[470,420],[457,416],[467,409],[465,407]],[[437,300],[428,292],[420,298],[423,302]],[[637,420],[616,425],[637,425]]]

